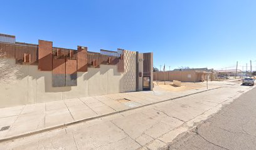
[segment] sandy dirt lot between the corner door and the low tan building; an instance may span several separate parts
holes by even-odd
[[[181,83],[181,87],[173,85],[173,82],[166,81],[154,81],[154,91],[186,91],[189,89],[200,89],[205,87],[203,83]]]

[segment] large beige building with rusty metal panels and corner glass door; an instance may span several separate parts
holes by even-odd
[[[153,55],[125,49],[87,51],[53,47],[53,42],[16,42],[0,34],[6,65],[18,67],[12,83],[0,84],[0,108],[111,93],[152,90]]]

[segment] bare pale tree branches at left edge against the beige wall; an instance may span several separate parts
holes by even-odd
[[[6,55],[0,49],[0,84],[13,84],[21,73],[20,67],[8,62]]]

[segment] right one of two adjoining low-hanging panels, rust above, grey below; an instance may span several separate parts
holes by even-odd
[[[77,86],[77,60],[66,59],[66,86]]]

